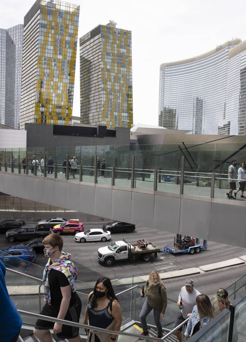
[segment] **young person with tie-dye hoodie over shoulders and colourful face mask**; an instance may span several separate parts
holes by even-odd
[[[75,289],[77,267],[70,260],[71,254],[62,252],[63,238],[50,234],[43,240],[44,255],[49,258],[44,269],[44,301],[41,315],[78,322],[81,313],[81,300]],[[38,319],[34,335],[41,342],[53,341],[50,329],[60,339],[82,342],[78,328]]]

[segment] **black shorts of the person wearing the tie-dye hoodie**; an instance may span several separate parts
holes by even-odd
[[[66,313],[66,316],[64,317],[64,319],[66,320],[70,320],[72,322],[79,322],[79,317],[80,317],[80,313],[81,313],[81,308],[82,308],[82,304],[81,304],[81,300],[78,297],[78,301],[76,304],[70,306],[68,308],[68,311]],[[44,316],[50,316],[50,317],[55,317],[57,318],[59,313],[59,310],[54,310],[47,302],[44,305],[44,307],[42,308],[41,311],[41,315]],[[48,329],[53,329],[54,327],[54,322],[50,322],[50,321],[46,321],[43,319],[38,319],[36,324],[35,324],[35,329],[38,330],[48,330]],[[62,329],[61,332],[59,332],[57,334],[57,336],[61,339],[72,339],[78,336],[78,328],[76,327],[71,327],[69,325],[62,325]]]

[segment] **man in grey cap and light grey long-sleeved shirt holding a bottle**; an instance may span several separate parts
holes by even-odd
[[[201,293],[194,288],[193,280],[191,278],[186,279],[185,286],[181,288],[178,296],[177,305],[180,308],[180,300],[182,299],[183,306],[177,316],[175,328],[190,317],[193,306],[196,305],[196,298],[199,294]],[[182,327],[175,331],[175,335],[178,341],[182,342]]]

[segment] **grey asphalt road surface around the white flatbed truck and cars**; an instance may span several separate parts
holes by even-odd
[[[99,228],[102,227],[102,225],[85,224],[85,228],[95,227]],[[159,246],[160,248],[163,248],[164,246],[173,243],[173,238],[175,237],[175,234],[159,231],[157,229],[150,230],[147,227],[139,226],[136,227],[136,230],[130,234],[112,234],[111,240],[106,242],[97,241],[77,243],[74,241],[73,235],[62,236],[64,238],[63,251],[71,253],[72,260],[78,268],[78,279],[84,282],[93,282],[103,275],[107,275],[110,279],[119,279],[130,274],[141,277],[143,275],[149,274],[150,271],[152,271],[153,269],[156,269],[159,273],[176,271],[179,269],[199,267],[201,265],[220,262],[246,254],[246,249],[244,248],[218,244],[217,242],[208,241],[207,250],[198,254],[196,253],[190,255],[187,253],[174,255],[169,253],[160,253],[157,259],[151,257],[150,261],[148,262],[144,262],[141,259],[133,261],[126,260],[116,262],[111,267],[106,267],[104,264],[99,263],[96,257],[97,250],[99,247],[107,246],[111,244],[113,241],[122,240],[123,238],[125,238],[130,243],[136,242],[136,240],[139,238],[145,238],[146,240],[154,242],[154,244]],[[18,244],[20,242],[21,241],[17,243],[15,242],[15,244]],[[8,242],[4,238],[4,234],[1,234],[0,249],[8,248],[12,245],[14,244]],[[41,277],[43,267],[46,261],[47,259],[44,257],[43,253],[37,253],[36,260],[34,261],[32,267],[29,267],[28,271],[37,277]],[[243,268],[244,265],[241,267]]]

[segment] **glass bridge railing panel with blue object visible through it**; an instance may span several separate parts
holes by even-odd
[[[157,190],[179,194],[180,192],[180,172],[164,172],[157,173]]]

